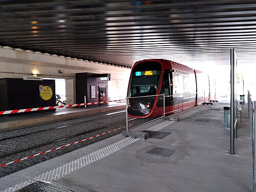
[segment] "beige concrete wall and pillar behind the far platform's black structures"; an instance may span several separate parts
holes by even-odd
[[[75,103],[75,73],[110,73],[110,95],[124,99],[131,69],[0,46],[0,78],[23,78],[37,70],[44,78],[66,79],[67,104]],[[63,73],[59,73],[62,70]],[[111,98],[112,99],[112,98]]]

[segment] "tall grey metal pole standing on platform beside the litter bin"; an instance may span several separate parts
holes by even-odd
[[[234,49],[230,49],[230,154],[234,154]]]

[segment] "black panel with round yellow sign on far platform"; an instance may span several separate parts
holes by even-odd
[[[40,90],[48,88],[49,95],[40,94]],[[19,78],[0,79],[0,110],[16,110],[54,106],[55,80],[24,80]],[[43,91],[42,93],[46,93]],[[5,103],[4,103],[5,102]],[[44,110],[46,112],[47,110]],[[55,111],[55,110],[54,110]]]

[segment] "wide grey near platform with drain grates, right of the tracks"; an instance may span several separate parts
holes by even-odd
[[[252,144],[248,112],[238,122],[236,155],[229,155],[223,128],[227,101],[200,105],[133,131],[162,139],[122,134],[0,178],[0,190],[14,191],[252,191]],[[10,188],[9,188],[10,187]],[[24,188],[23,188],[24,187]]]

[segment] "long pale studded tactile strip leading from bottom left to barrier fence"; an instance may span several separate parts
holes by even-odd
[[[21,189],[25,186],[28,186],[32,183],[35,183],[36,181],[51,182],[51,181],[57,180],[57,179],[64,177],[72,172],[75,172],[76,170],[78,170],[84,166],[94,163],[106,156],[109,156],[109,155],[119,151],[121,148],[128,146],[138,140],[139,140],[139,138],[133,139],[131,137],[127,137],[125,139],[122,139],[121,141],[118,141],[109,146],[101,148],[100,150],[93,152],[89,155],[80,157],[74,161],[67,163],[67,164],[64,164],[57,168],[54,168],[54,169],[50,170],[49,172],[43,173],[43,174],[35,177],[32,180],[24,181],[15,186],[12,186],[6,190],[3,190],[2,192],[16,191],[16,190]]]

